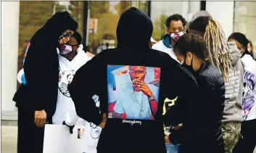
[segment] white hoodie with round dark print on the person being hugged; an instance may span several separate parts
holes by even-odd
[[[75,72],[91,59],[91,57],[83,51],[83,45],[80,45],[77,51],[78,54],[75,58],[72,61],[69,61],[65,57],[62,57],[59,54],[59,49],[57,49],[59,56],[59,89],[57,107],[54,116],[52,117],[52,123],[56,125],[62,125],[63,121],[65,121],[67,125],[86,125],[86,120],[83,120],[76,114],[75,104],[67,90],[67,86],[73,80]],[[25,84],[23,69],[18,73],[17,80],[19,83]],[[97,101],[99,97],[94,95],[92,98],[96,101],[96,106],[99,107],[99,102]]]

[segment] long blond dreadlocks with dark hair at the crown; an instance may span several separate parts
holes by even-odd
[[[210,17],[198,17],[191,23],[191,30],[203,33],[210,61],[226,80],[232,70],[231,50],[220,23]]]

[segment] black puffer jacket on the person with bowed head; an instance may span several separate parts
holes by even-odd
[[[223,76],[217,67],[208,64],[195,78],[199,85],[199,101],[202,104],[199,105],[199,111],[202,112],[201,123],[206,125],[206,131],[214,131],[212,136],[216,136],[215,141],[218,141],[222,137],[220,125],[226,90]]]

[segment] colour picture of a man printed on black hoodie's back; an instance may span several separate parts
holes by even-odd
[[[160,68],[107,66],[108,118],[154,120],[158,108]]]

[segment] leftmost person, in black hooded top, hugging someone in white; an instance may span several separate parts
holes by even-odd
[[[77,28],[68,12],[57,12],[30,39],[24,59],[26,84],[13,98],[18,108],[18,153],[43,152],[44,125],[51,123],[57,103],[57,47],[69,41]]]

